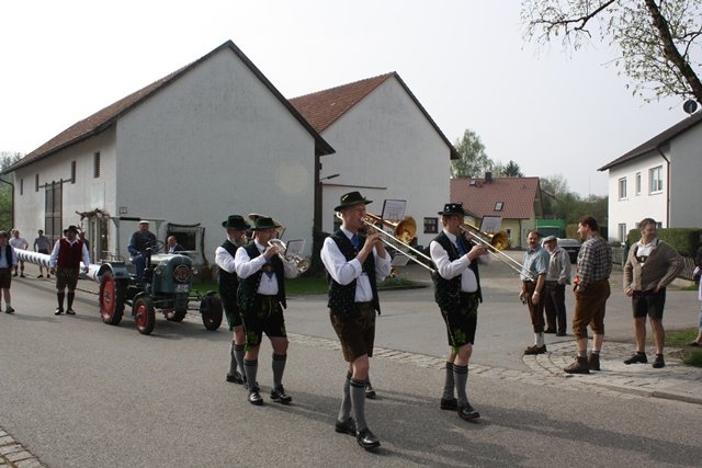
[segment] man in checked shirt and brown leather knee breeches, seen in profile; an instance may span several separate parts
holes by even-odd
[[[604,341],[604,311],[610,297],[610,274],[612,273],[612,251],[598,233],[597,220],[591,216],[578,221],[578,236],[582,247],[578,252],[575,279],[575,316],[573,333],[578,354],[565,367],[568,374],[590,374],[600,370],[600,351]],[[592,352],[588,355],[588,324],[592,329]]]

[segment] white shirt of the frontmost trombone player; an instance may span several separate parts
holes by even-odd
[[[341,231],[346,237],[351,240],[353,232],[341,228]],[[330,237],[325,239],[325,243],[321,247],[321,262],[325,264],[329,275],[342,286],[346,286],[355,282],[355,297],[356,303],[369,303],[373,300],[373,289],[371,288],[371,281],[369,275],[363,272],[363,265],[356,258],[347,262],[346,256],[339,250],[337,242]],[[375,260],[375,279],[382,282],[387,275],[390,274],[390,255],[386,252],[385,259],[378,256],[377,251],[373,248],[373,259]]]

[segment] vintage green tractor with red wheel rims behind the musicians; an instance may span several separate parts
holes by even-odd
[[[222,301],[214,292],[202,295],[192,289],[193,266],[188,255],[155,253],[162,243],[147,249],[141,278],[127,271],[124,261],[104,263],[97,274],[100,282],[100,315],[109,324],[120,324],[124,307],[132,307],[136,328],[149,334],[156,326],[156,311],[167,320],[181,322],[191,303],[199,303],[202,322],[207,330],[222,324]]]

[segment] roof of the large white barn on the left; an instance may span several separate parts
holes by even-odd
[[[160,80],[157,80],[151,84],[127,95],[126,98],[123,98],[120,101],[98,111],[90,117],[73,124],[34,151],[26,155],[24,158],[22,158],[11,167],[7,168],[2,173],[12,172],[39,159],[49,157],[50,155],[60,151],[61,149],[68,148],[84,139],[88,139],[93,135],[98,135],[101,132],[104,132],[105,129],[114,125],[122,115],[138,106],[143,101],[157,93],[161,89],[166,88],[182,75],[199,66],[203,61],[207,60],[211,56],[224,48],[231,49],[253,72],[253,75],[256,75],[259,80],[261,80],[263,84],[265,84],[265,87],[279,99],[279,101],[281,101],[281,103],[293,114],[293,116],[297,118],[297,121],[299,121],[299,123],[307,129],[307,132],[313,135],[313,137],[315,138],[315,152],[318,156],[330,155],[335,152],[333,148],[331,148],[331,146],[327,141],[325,141],[324,138],[321,138],[321,136],[312,127],[312,125],[307,121],[305,121],[302,115],[299,115],[297,110],[280,93],[280,91],[278,91],[278,89],[275,89],[275,87],[273,87],[268,78],[265,78],[263,73],[261,73],[261,71],[253,65],[253,62],[251,62],[251,60],[249,60],[249,58],[241,52],[241,49],[239,49],[234,44],[234,42],[227,41],[199,60],[193,61],[192,64],[181,68],[180,70],[173,71],[167,77],[163,77]]]

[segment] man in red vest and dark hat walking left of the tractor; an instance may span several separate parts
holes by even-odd
[[[64,297],[66,288],[68,288],[68,307],[66,313],[75,316],[73,298],[76,297],[76,285],[78,284],[78,274],[80,273],[80,261],[83,262],[83,271],[88,273],[90,264],[90,255],[88,248],[78,238],[78,228],[69,226],[66,229],[66,237],[63,237],[54,244],[54,251],[48,261],[49,273],[56,275],[56,297],[58,298],[58,307],[54,315],[64,313]]]

